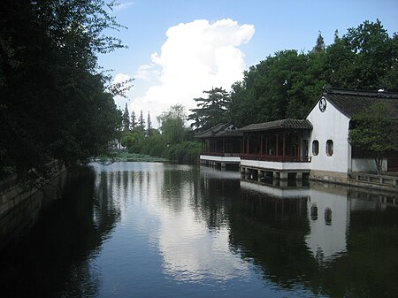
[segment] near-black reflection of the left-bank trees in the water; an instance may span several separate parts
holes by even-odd
[[[52,202],[24,239],[3,252],[2,294],[56,297],[71,288],[77,297],[98,294],[100,276],[90,267],[90,258],[111,233],[119,212],[106,175],[98,195],[95,179],[90,168],[69,173],[62,198]]]

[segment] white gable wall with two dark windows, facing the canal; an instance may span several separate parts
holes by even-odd
[[[325,111],[320,111],[317,103],[307,119],[313,126],[309,141],[311,177],[323,180],[346,180],[348,169],[351,167],[351,148],[348,144],[349,118],[326,99]],[[312,153],[314,140],[319,142],[318,156]],[[326,155],[327,140],[333,141],[331,157]]]

